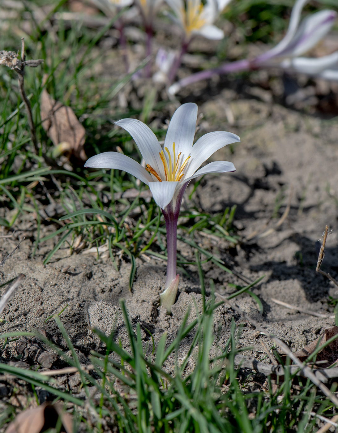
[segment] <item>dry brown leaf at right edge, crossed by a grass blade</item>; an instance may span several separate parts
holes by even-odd
[[[303,347],[303,349],[299,350],[298,352],[295,352],[295,355],[300,359],[300,361],[303,362],[309,355],[311,355],[311,353],[315,351],[319,340],[319,346],[322,346],[328,339],[337,334],[338,326],[327,328],[315,341],[312,341],[312,343],[310,343],[308,346]],[[324,349],[317,354],[316,361],[327,361],[325,363],[319,364],[321,368],[328,368],[330,365],[338,361],[338,338],[328,346],[324,347]]]

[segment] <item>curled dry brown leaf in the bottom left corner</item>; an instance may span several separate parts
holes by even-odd
[[[26,409],[7,427],[5,433],[40,433],[55,428],[61,418],[61,432],[73,433],[73,418],[61,405],[43,403],[34,409]]]

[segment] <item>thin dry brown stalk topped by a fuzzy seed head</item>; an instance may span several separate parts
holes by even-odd
[[[26,61],[26,55],[25,55],[25,38],[21,38],[21,57],[18,58],[18,55],[16,52],[13,51],[0,51],[0,65],[5,65],[8,68],[13,69],[18,74],[18,82],[19,82],[19,92],[23,99],[23,102],[26,107],[27,111],[27,117],[28,117],[28,124],[29,129],[32,136],[32,142],[34,145],[34,149],[37,155],[39,155],[39,146],[36,139],[36,133],[35,133],[35,124],[33,122],[33,115],[32,115],[32,107],[29,102],[29,99],[27,98],[26,92],[25,92],[25,66],[30,66],[32,68],[36,68],[36,66],[41,65],[43,63],[42,59],[39,60],[27,60]]]

